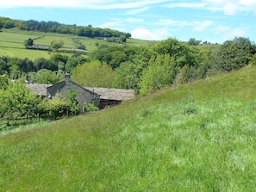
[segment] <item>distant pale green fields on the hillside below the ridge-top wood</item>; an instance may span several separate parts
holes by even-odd
[[[49,47],[53,40],[63,40],[64,50],[76,49],[75,42],[80,41],[84,44],[88,52],[92,52],[97,49],[97,45],[121,45],[116,43],[111,43],[106,40],[95,40],[87,37],[78,37],[77,35],[71,34],[53,34],[53,33],[43,33],[43,32],[30,32],[21,31],[17,29],[2,29],[3,32],[0,33],[0,57],[10,56],[18,58],[46,58],[51,57],[51,53],[47,51],[36,51],[28,50],[23,46],[24,40],[31,38],[34,40],[34,44],[46,45]],[[130,46],[150,46],[153,42],[147,40],[135,40],[129,39],[127,45]],[[72,54],[68,54],[72,55]]]

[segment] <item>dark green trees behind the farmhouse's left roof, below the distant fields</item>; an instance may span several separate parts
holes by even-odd
[[[71,71],[78,64],[88,59],[80,55],[68,57],[54,53],[50,59],[20,59],[16,57],[0,57],[0,75],[7,75],[10,79],[28,77],[34,84],[56,84],[64,78],[65,71]]]

